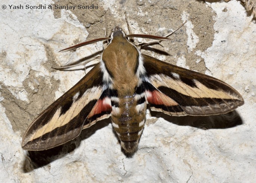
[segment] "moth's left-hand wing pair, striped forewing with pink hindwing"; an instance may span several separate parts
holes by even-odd
[[[109,117],[111,107],[102,104],[102,76],[100,65],[97,64],[75,86],[38,115],[24,134],[22,148],[45,150],[58,146],[77,137],[82,128]]]

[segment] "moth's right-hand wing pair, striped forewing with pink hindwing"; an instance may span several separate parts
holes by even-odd
[[[225,82],[143,55],[144,88],[151,110],[170,115],[213,115],[244,104]]]

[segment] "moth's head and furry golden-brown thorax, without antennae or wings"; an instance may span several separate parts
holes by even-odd
[[[120,28],[112,33],[112,40],[102,54],[102,61],[113,80],[113,88],[120,95],[133,95],[138,85],[136,75],[139,65],[139,51],[128,42]]]

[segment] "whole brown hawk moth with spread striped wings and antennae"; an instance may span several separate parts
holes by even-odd
[[[241,95],[225,82],[144,55],[116,26],[110,37],[91,40],[62,51],[110,40],[100,63],[31,123],[22,148],[36,151],[59,146],[81,130],[105,118],[126,153],[138,146],[149,105],[152,111],[172,116],[224,114],[244,104]]]

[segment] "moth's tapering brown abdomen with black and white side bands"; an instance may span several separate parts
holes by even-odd
[[[143,95],[127,95],[112,99],[112,124],[121,146],[127,153],[133,153],[145,124],[146,100]]]

